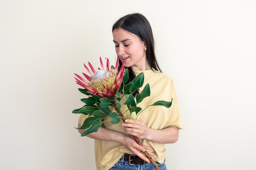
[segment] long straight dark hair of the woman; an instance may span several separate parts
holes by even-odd
[[[145,42],[145,45],[147,47],[146,60],[148,61],[150,68],[152,70],[155,69],[157,71],[161,71],[155,56],[155,42],[153,32],[147,18],[140,13],[125,15],[117,20],[117,22],[115,22],[115,24],[112,26],[112,32],[115,29],[120,28],[137,35],[141,41]],[[121,64],[122,63],[119,60],[119,66],[121,66]],[[127,83],[131,82],[136,77],[131,67],[128,67],[128,75],[129,79]],[[139,89],[137,89],[137,91],[135,91],[133,95],[136,95],[137,93],[139,93]]]

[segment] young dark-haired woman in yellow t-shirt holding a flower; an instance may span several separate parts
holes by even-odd
[[[97,170],[155,170],[143,154],[146,149],[159,168],[166,170],[164,144],[175,143],[179,130],[183,128],[173,80],[159,69],[153,33],[144,15],[125,15],[113,25],[112,33],[119,62],[121,64],[125,60],[124,66],[129,71],[128,82],[139,73],[144,73],[144,85],[134,95],[147,83],[150,85],[150,97],[146,97],[138,106],[146,108],[159,100],[170,102],[173,99],[173,102],[170,108],[151,106],[137,120],[128,119],[126,123],[115,125],[107,121],[105,127],[87,135],[95,139]],[[129,117],[127,114],[126,117]],[[79,127],[85,119],[86,116],[81,114]],[[141,139],[144,147],[139,146],[131,135]]]

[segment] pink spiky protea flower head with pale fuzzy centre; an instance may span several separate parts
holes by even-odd
[[[80,86],[84,87],[87,89],[88,93],[92,95],[98,95],[99,97],[114,97],[117,94],[117,90],[119,90],[121,84],[122,84],[122,79],[124,77],[124,62],[120,68],[120,71],[118,72],[118,63],[119,63],[119,58],[117,58],[116,66],[115,68],[111,68],[109,64],[109,60],[107,59],[107,68],[106,70],[104,69],[101,57],[100,57],[100,62],[101,62],[101,69],[98,68],[97,71],[93,68],[92,64],[88,62],[92,72],[89,70],[89,68],[83,64],[90,74],[88,76],[87,74],[83,73],[86,79],[81,77],[80,75],[75,74],[79,79],[76,79],[76,84],[79,84]]]

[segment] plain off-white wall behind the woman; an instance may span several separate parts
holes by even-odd
[[[150,21],[180,101],[168,169],[256,169],[256,1],[1,0],[1,170],[95,170],[93,139],[73,128],[73,73],[115,64],[111,27],[132,12]]]

